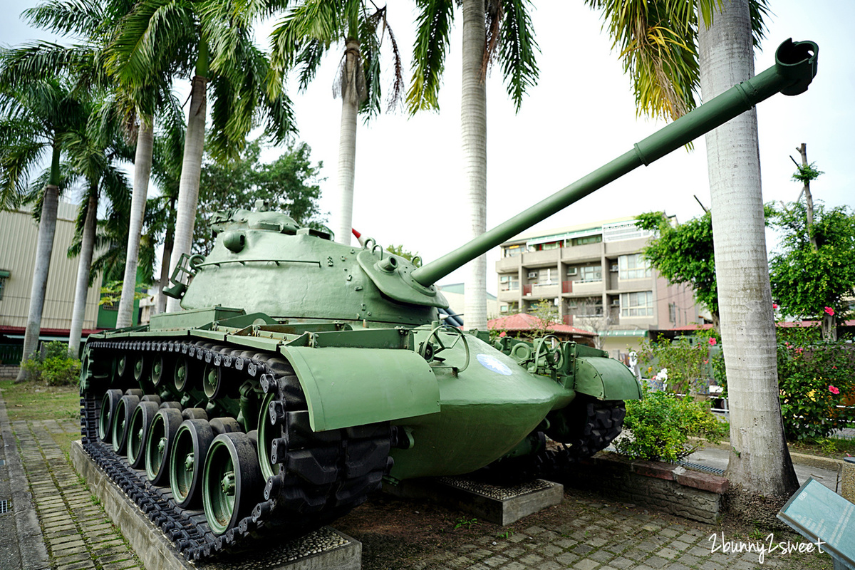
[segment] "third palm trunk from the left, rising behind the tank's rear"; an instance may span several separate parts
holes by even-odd
[[[139,122],[137,151],[133,157],[133,197],[131,197],[131,219],[127,228],[127,253],[125,254],[125,278],[121,284],[119,313],[115,327],[133,325],[133,297],[137,290],[137,266],[139,262],[139,236],[143,232],[145,201],[149,196],[151,153],[154,149],[155,127],[151,117]]]

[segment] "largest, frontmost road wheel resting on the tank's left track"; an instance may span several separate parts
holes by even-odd
[[[221,433],[205,459],[202,501],[211,532],[221,535],[248,516],[262,497],[256,444],[249,435]]]

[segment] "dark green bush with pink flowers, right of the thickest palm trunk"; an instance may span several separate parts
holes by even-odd
[[[818,327],[779,331],[778,336],[778,386],[787,439],[825,438],[855,421],[855,408],[845,405],[855,396],[852,345],[820,340]]]

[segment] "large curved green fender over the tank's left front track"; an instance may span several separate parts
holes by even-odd
[[[439,412],[439,385],[411,350],[280,347],[291,362],[315,432]]]

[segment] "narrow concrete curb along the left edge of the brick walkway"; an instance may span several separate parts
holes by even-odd
[[[15,528],[18,533],[18,544],[21,547],[21,564],[25,568],[49,568],[50,557],[44,546],[42,527],[38,523],[36,507],[32,503],[28,485],[29,479],[24,473],[21,455],[18,454],[18,444],[9,414],[6,414],[6,403],[0,395],[0,432],[6,442],[6,465],[9,467],[9,487],[12,491],[12,508],[15,511]]]

